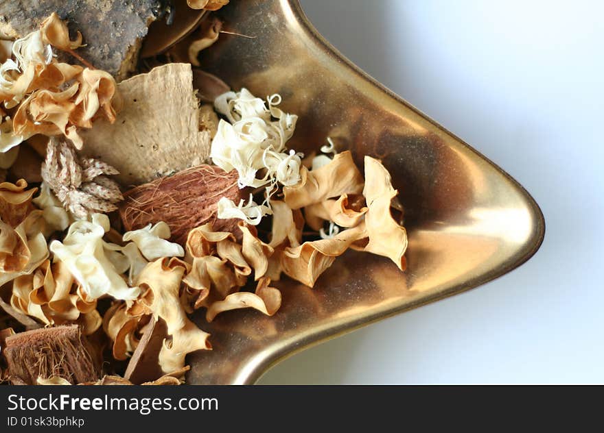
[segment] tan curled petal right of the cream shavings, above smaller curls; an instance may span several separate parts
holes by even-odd
[[[301,182],[283,188],[284,201],[292,209],[321,203],[342,194],[360,194],[364,180],[352,160],[350,151],[334,156],[332,162],[319,169],[308,171],[302,167]]]

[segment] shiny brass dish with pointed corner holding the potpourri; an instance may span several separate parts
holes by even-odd
[[[272,364],[362,325],[469,290],[528,260],[544,218],[531,196],[498,166],[393,95],[342,57],[310,25],[297,0],[233,1],[202,66],[233,88],[279,92],[299,114],[289,145],[310,151],[332,137],[382,158],[405,208],[408,269],[349,252],[307,288],[278,282],[281,310],[226,312],[211,324],[213,351],[189,356],[189,384],[252,384]]]

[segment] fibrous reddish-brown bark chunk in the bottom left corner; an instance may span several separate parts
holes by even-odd
[[[101,377],[101,362],[78,325],[47,327],[5,338],[4,358],[12,384],[58,376],[78,384]]]

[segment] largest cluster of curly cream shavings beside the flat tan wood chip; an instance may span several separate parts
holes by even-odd
[[[300,182],[301,155],[286,151],[298,116],[277,108],[279,103],[277,94],[265,103],[246,88],[224,93],[214,101],[216,111],[230,123],[218,123],[210,156],[224,171],[237,170],[240,188]]]

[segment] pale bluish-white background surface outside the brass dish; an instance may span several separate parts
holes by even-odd
[[[495,282],[308,349],[260,383],[604,382],[604,3],[302,4],[344,55],[524,185],[546,238]]]

